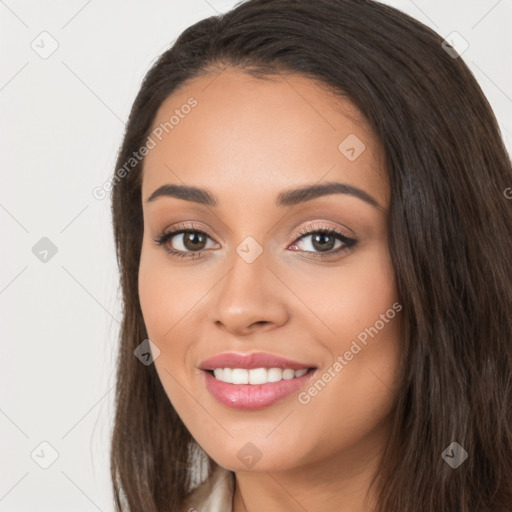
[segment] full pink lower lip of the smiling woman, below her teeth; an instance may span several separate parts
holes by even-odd
[[[223,405],[232,409],[263,409],[302,388],[315,373],[311,370],[295,377],[267,384],[228,384],[203,371],[208,391]]]

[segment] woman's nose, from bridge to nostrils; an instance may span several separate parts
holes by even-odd
[[[265,253],[252,263],[238,255],[234,257],[233,266],[216,287],[213,300],[218,327],[243,336],[256,330],[271,330],[288,321],[287,300],[291,294],[267,263]]]

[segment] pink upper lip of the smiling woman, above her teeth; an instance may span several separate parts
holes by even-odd
[[[202,361],[199,365],[201,370],[214,370],[215,368],[290,368],[291,370],[302,370],[315,368],[312,364],[299,363],[284,357],[258,352],[253,354],[236,354],[224,352]]]

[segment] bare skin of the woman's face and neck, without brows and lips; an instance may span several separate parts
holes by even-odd
[[[235,512],[371,510],[372,493],[363,500],[391,426],[400,314],[307,404],[294,393],[264,409],[225,407],[198,366],[222,352],[261,351],[313,362],[321,375],[399,302],[379,142],[351,103],[307,78],[261,80],[230,68],[185,84],[154,126],[191,96],[197,106],[148,153],[142,180],[139,293],[163,387],[202,448],[236,473]],[[349,134],[366,146],[354,161],[338,149]],[[283,190],[326,181],[361,188],[382,208],[348,194],[275,205]],[[167,183],[207,188],[218,206],[146,202]],[[208,235],[201,257],[173,257],[152,240],[191,222]],[[314,236],[298,233],[311,222],[342,230],[356,246],[335,253],[336,242],[330,257],[315,259]],[[236,252],[248,236],[263,249],[251,264]],[[167,244],[198,250],[180,234]],[[248,442],[262,454],[251,468],[237,457]]]

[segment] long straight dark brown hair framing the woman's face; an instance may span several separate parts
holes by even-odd
[[[154,365],[134,357],[147,338],[137,287],[143,160],[129,170],[126,162],[170,94],[226,67],[260,78],[299,73],[332,88],[384,148],[404,340],[374,480],[379,511],[512,509],[512,165],[474,76],[442,43],[372,0],[250,0],[187,28],[149,70],[112,183],[124,303],[111,446],[118,510],[180,510],[205,455]],[[441,457],[452,442],[468,453],[457,469]],[[203,460],[209,473],[215,462]]]

